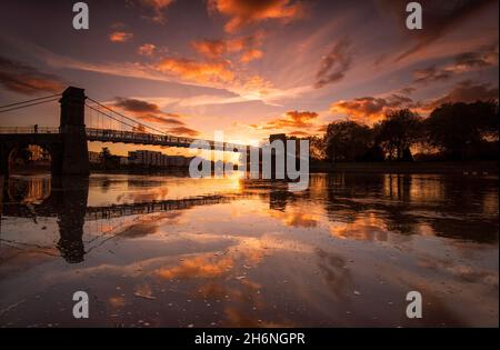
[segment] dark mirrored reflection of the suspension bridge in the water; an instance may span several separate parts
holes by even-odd
[[[88,207],[89,181],[86,178],[53,177],[50,181],[50,194],[39,203],[29,204],[20,202],[22,193],[10,192],[11,188],[6,182],[4,184],[7,186],[2,191],[3,202],[0,203],[1,214],[13,218],[32,218],[33,220],[37,220],[39,217],[57,218],[59,227],[57,248],[70,263],[83,261],[84,254],[89,251],[89,247],[86,250],[87,243],[83,240],[86,223],[227,203],[240,197],[237,194],[211,194],[150,202]]]

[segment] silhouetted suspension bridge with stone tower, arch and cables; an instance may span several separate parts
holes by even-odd
[[[86,97],[83,89],[70,87],[60,96],[59,128],[0,128],[0,174],[9,173],[13,151],[29,144],[40,146],[50,153],[52,173],[77,176],[89,173],[88,141],[179,148],[189,148],[198,141],[202,148],[247,154],[251,148],[243,144],[166,134],[161,130],[140,123]],[[59,94],[3,106],[0,112],[53,102],[57,100],[54,97]]]

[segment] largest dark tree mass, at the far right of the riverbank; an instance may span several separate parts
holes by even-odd
[[[484,149],[498,144],[498,127],[494,101],[442,104],[426,121],[428,142],[451,160],[480,158]]]

